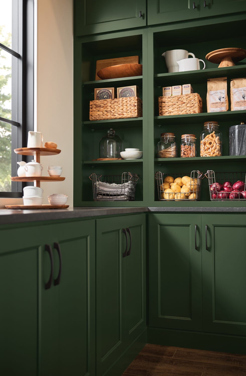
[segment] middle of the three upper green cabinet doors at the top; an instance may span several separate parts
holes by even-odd
[[[152,0],[148,2],[148,25],[191,20],[200,17],[199,0]]]

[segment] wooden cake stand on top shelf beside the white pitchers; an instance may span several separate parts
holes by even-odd
[[[211,63],[219,64],[218,68],[232,67],[235,62],[246,57],[246,50],[242,48],[223,48],[215,50],[206,55],[206,59]]]

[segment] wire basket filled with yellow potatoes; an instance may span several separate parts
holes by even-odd
[[[175,200],[175,201],[186,201],[190,199],[192,201],[200,200],[201,195],[201,179],[202,173],[200,171],[192,171],[190,174],[180,173],[180,174],[163,174],[160,171],[155,173],[155,179],[157,180],[157,189],[158,189],[158,199],[159,201],[166,201],[166,200]],[[183,182],[181,182],[182,178]],[[165,183],[171,183],[174,181],[170,178],[173,178],[177,185],[181,186],[181,191],[178,192],[179,188],[175,187],[174,191],[171,188],[166,188]],[[186,179],[185,179],[186,178]],[[195,180],[196,179],[196,180]],[[172,182],[171,182],[172,181]],[[183,189],[182,189],[183,188]],[[170,191],[165,192],[165,189],[170,189]],[[177,192],[175,192],[177,191]]]

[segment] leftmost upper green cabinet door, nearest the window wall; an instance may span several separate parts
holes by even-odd
[[[76,36],[146,26],[145,0],[75,0],[74,10]]]

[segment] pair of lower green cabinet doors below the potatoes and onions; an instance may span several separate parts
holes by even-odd
[[[149,325],[246,335],[246,216],[149,215]]]

